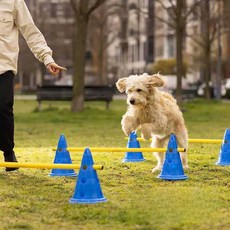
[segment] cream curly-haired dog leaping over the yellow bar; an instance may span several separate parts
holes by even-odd
[[[165,84],[160,74],[131,75],[117,81],[117,89],[127,94],[127,112],[123,115],[121,125],[124,133],[141,129],[142,137],[152,137],[151,147],[167,147],[170,134],[175,134],[178,146],[186,148],[188,133],[182,112],[176,100],[168,93],[158,89]],[[152,172],[161,170],[164,162],[163,153],[154,153],[158,163]],[[184,168],[188,168],[187,153],[180,153]]]

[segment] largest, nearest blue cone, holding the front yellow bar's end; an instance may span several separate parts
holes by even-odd
[[[83,154],[81,168],[78,174],[74,195],[70,198],[71,204],[95,204],[106,202],[100,186],[97,172],[93,168],[93,157],[88,148]]]

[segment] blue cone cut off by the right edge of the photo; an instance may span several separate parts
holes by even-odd
[[[219,159],[216,165],[229,166],[230,165],[230,129],[226,129],[224,139],[221,145]]]

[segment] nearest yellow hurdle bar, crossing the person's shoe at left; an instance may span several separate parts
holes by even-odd
[[[31,164],[16,162],[0,162],[0,167],[7,168],[36,168],[36,169],[80,169],[77,164]],[[94,170],[102,170],[103,165],[93,165]]]

